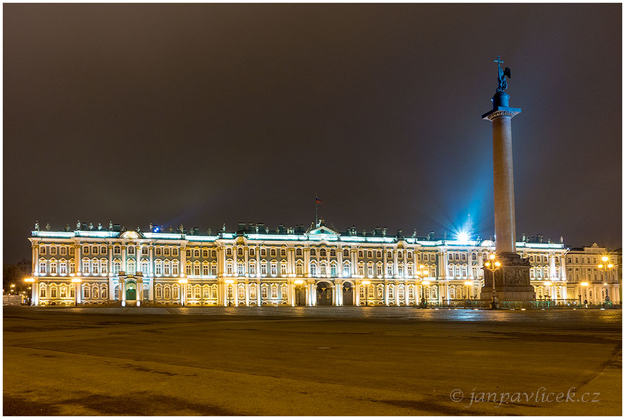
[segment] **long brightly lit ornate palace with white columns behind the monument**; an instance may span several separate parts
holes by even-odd
[[[414,305],[478,299],[483,260],[494,252],[488,240],[387,236],[381,228],[339,233],[324,223],[308,230],[281,225],[272,232],[240,224],[235,233],[213,235],[156,227],[67,230],[32,232],[34,305]],[[537,298],[577,298],[567,292],[562,244],[524,241],[517,248],[531,261]]]

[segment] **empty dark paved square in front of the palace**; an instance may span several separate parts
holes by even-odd
[[[622,311],[3,309],[3,414],[617,415]]]

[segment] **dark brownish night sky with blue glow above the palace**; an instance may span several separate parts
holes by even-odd
[[[3,257],[39,220],[494,231],[621,247],[622,5],[3,5]]]

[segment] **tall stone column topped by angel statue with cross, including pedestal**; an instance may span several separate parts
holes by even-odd
[[[501,69],[503,61],[499,56],[494,62],[497,63],[499,85],[491,99],[493,109],[483,114],[482,119],[493,123],[496,254],[485,261],[480,298],[491,300],[493,307],[498,307],[499,301],[534,300],[536,294],[529,283],[529,259],[516,253],[511,120],[521,110],[509,107],[510,96],[505,90],[508,88],[506,77],[511,77],[510,69]]]

